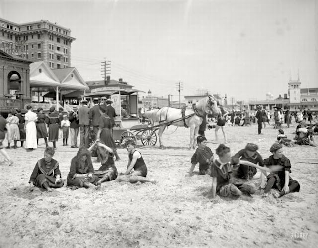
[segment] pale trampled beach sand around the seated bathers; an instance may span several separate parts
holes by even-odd
[[[296,124],[284,128],[293,138]],[[52,193],[28,189],[28,180],[38,159],[43,157],[44,140],[37,150],[7,149],[14,164],[0,164],[0,247],[316,247],[318,242],[318,148],[284,147],[291,161],[291,177],[301,190],[280,199],[262,198],[258,190],[252,199],[218,198],[211,201],[211,177],[186,177],[194,150],[187,149],[189,130],[170,126],[163,135],[166,150],[137,142],[156,184],[106,182],[101,190],[65,184]],[[225,127],[232,155],[248,142],[259,146],[267,158],[277,130],[267,126],[257,134],[257,124]],[[223,142],[221,130],[219,140]],[[215,153],[214,129],[207,130],[208,146]],[[316,136],[316,140],[318,137]],[[4,142],[4,146],[6,146]],[[18,146],[20,142],[18,142]],[[50,143],[52,145],[52,143]],[[70,161],[78,149],[57,143],[54,155],[66,179]],[[125,172],[127,151],[118,149],[115,162]],[[3,157],[0,158],[3,160]],[[93,159],[94,168],[100,164]],[[248,184],[259,188],[258,172]],[[316,245],[315,245],[316,244]]]

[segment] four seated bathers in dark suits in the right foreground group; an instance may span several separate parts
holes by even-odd
[[[278,190],[274,193],[275,198],[289,192],[298,192],[300,189],[299,183],[289,176],[291,173],[290,160],[283,154],[283,147],[280,143],[274,143],[270,147],[272,155],[264,160],[257,152],[258,146],[252,143],[248,143],[234,156],[231,156],[229,147],[221,144],[216,149],[218,158],[214,157],[204,136],[197,137],[197,144],[198,148],[192,156],[188,176],[193,175],[195,165],[199,163],[199,173],[212,177],[212,198],[215,198],[216,194],[223,197],[251,196],[255,193],[255,189],[244,181],[252,179],[257,169],[261,170],[260,189],[264,189],[264,196],[267,196],[272,188]],[[265,176],[267,177],[266,183]]]

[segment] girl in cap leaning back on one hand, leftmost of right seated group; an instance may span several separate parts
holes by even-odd
[[[200,175],[211,174],[211,161],[213,159],[213,152],[207,146],[207,139],[199,135],[197,137],[198,148],[191,158],[191,167],[187,176],[193,175],[195,165],[199,163]]]

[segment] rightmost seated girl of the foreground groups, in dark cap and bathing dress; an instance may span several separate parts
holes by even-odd
[[[299,192],[299,183],[289,176],[291,173],[291,165],[289,159],[283,154],[283,146],[279,143],[274,143],[269,151],[273,153],[273,155],[264,160],[264,165],[269,168],[273,165],[281,165],[282,169],[272,172],[267,176],[267,185],[264,194],[268,194],[271,188],[278,189],[279,191],[279,193],[274,194],[275,198],[279,198],[290,192]],[[261,180],[264,180],[264,173],[266,174],[266,172],[262,172],[261,174]]]

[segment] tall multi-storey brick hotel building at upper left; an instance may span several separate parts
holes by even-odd
[[[48,20],[14,23],[0,18],[0,49],[50,68],[71,66],[71,30]]]

